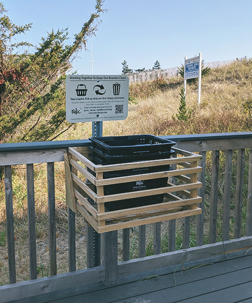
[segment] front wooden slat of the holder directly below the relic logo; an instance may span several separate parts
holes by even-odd
[[[186,189],[200,188],[201,186],[202,186],[201,182],[196,182],[196,183],[192,183],[192,184],[176,185],[175,189],[176,189],[176,191],[180,191],[180,190],[186,190]],[[127,192],[127,193],[112,194],[112,195],[107,195],[107,196],[100,196],[100,197],[97,197],[95,199],[95,201],[96,201],[96,203],[106,203],[109,201],[124,200],[124,199],[143,197],[143,196],[149,196],[149,195],[167,193],[167,192],[173,192],[173,191],[174,191],[174,187],[162,187],[162,188],[157,188],[157,189],[147,189],[147,190],[141,190],[141,191],[135,191],[135,192]]]

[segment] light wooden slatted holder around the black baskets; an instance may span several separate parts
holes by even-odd
[[[202,172],[198,166],[202,156],[175,147],[172,149],[177,158],[102,166],[95,165],[89,159],[88,146],[70,147],[68,154],[65,154],[67,205],[74,212],[80,211],[85,221],[98,233],[201,214],[202,210],[197,204],[201,203],[202,198],[197,195],[197,189],[202,187],[202,183],[197,181],[197,174]],[[177,169],[103,179],[103,172],[168,164],[175,164]],[[164,177],[175,177],[182,182],[177,182],[178,185],[168,182],[167,187],[162,188],[104,195],[104,185]],[[107,211],[104,207],[104,203],[109,201],[163,193],[163,203],[159,204],[116,211]]]

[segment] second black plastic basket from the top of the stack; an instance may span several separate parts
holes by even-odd
[[[104,165],[169,159],[171,155],[175,154],[175,151],[171,149],[170,151],[164,151],[162,153],[154,154],[111,156],[102,153],[102,151],[97,148],[94,148],[92,146],[89,147],[92,150],[92,157],[101,160]]]

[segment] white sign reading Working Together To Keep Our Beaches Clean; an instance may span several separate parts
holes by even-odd
[[[66,114],[70,123],[124,120],[128,103],[128,76],[69,75],[66,79]]]

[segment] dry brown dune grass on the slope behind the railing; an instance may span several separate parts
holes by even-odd
[[[123,121],[106,121],[103,135],[129,134],[193,134],[238,132],[252,130],[252,61],[234,62],[228,66],[211,70],[202,79],[201,105],[197,105],[198,87],[187,85],[186,104],[192,110],[187,122],[172,118],[179,108],[182,79],[145,82],[130,86],[132,102],[129,115]],[[75,124],[59,140],[83,139],[91,136],[91,123]],[[36,165],[35,208],[37,233],[38,276],[48,275],[48,216],[47,180],[45,165]],[[68,221],[65,206],[65,175],[62,163],[55,164],[56,233],[58,273],[68,271]],[[208,193],[206,192],[206,196]],[[28,220],[25,167],[13,168],[13,200],[15,220],[15,243],[17,280],[29,279],[28,258]],[[206,207],[206,213],[208,209]],[[179,220],[177,234],[181,234]],[[207,223],[206,223],[207,226]],[[151,228],[149,227],[151,230]],[[166,232],[165,229],[164,233]],[[77,231],[77,269],[86,267],[85,222],[78,214]],[[137,256],[137,231],[132,229],[132,257]],[[148,240],[149,241],[149,240]],[[151,240],[150,242],[151,243]],[[118,240],[119,251],[121,239]],[[148,243],[147,243],[148,244]],[[147,249],[148,249],[147,245]],[[120,257],[119,257],[120,258]],[[8,254],[6,239],[6,215],[4,182],[0,182],[0,285],[8,283]]]

